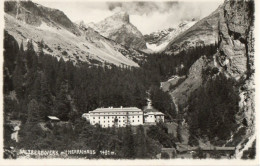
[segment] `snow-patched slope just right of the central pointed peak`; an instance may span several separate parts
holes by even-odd
[[[183,21],[175,28],[168,28],[165,30],[153,32],[149,35],[144,35],[147,47],[152,51],[161,51],[172,41],[176,36],[185,32],[197,21],[195,19],[191,21]]]

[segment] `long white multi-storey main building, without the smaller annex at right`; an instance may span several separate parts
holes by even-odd
[[[136,126],[144,123],[143,111],[136,107],[97,108],[83,114],[82,117],[91,125],[100,124],[101,127],[125,127],[127,124]]]

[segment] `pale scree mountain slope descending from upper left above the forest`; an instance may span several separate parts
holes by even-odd
[[[127,49],[91,28],[72,23],[63,12],[31,1],[5,2],[5,30],[19,43],[33,40],[35,49],[43,40],[44,52],[75,63],[137,67],[132,58],[142,57],[134,49]]]

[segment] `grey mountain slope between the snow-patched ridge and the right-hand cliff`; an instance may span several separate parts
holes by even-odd
[[[185,32],[172,38],[163,52],[173,54],[198,45],[209,45],[217,42],[219,11],[221,9],[222,7],[220,6],[208,17],[198,21]]]

